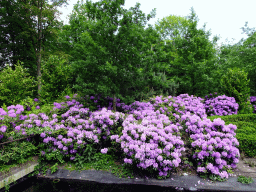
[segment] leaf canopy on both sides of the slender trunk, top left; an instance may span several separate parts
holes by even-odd
[[[23,67],[28,69],[30,76],[36,78],[39,25],[42,24],[40,27],[42,58],[47,58],[48,53],[52,54],[56,49],[58,50],[53,42],[62,22],[56,18],[56,13],[59,13],[56,6],[63,3],[67,3],[67,0],[58,0],[51,5],[44,0],[38,3],[34,0],[1,0],[0,44],[3,59],[0,61],[0,66],[7,64],[9,59],[13,64],[12,69],[15,69],[17,61],[20,60],[24,63]],[[44,19],[38,19],[40,14]]]

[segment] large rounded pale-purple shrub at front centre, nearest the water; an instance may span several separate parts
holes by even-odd
[[[138,102],[137,102],[138,104]],[[149,103],[141,103],[141,108],[152,108]],[[135,118],[134,118],[135,115]],[[136,119],[142,119],[138,123]],[[123,122],[121,137],[112,135],[111,139],[121,143],[128,158],[125,163],[137,163],[137,167],[159,171],[159,176],[167,176],[168,170],[179,166],[184,142],[180,136],[172,135],[178,130],[176,125],[170,125],[167,116],[159,111],[133,111]]]

